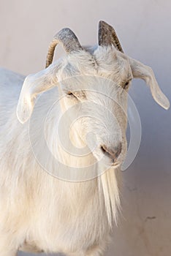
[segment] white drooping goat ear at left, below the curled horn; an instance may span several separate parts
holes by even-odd
[[[30,118],[37,94],[57,85],[58,80],[54,73],[54,69],[50,66],[35,75],[28,75],[26,77],[23,82],[17,107],[17,117],[20,123],[23,124]]]

